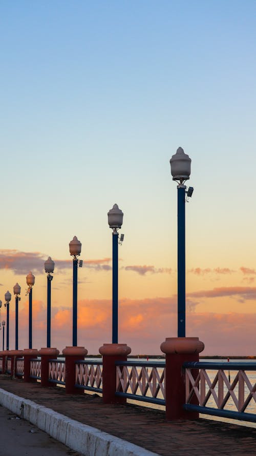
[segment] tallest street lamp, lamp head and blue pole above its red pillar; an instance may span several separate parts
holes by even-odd
[[[185,196],[184,182],[189,179],[191,158],[179,147],[170,158],[173,181],[178,183],[178,337],[186,335],[186,290],[185,290]],[[191,196],[193,188],[189,187]]]

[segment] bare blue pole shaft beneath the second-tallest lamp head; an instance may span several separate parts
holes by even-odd
[[[113,232],[112,243],[112,344],[118,344],[118,233]]]

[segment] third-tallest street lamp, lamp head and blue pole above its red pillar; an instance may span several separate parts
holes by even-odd
[[[69,251],[71,256],[73,256],[73,347],[77,347],[77,256],[80,255],[81,249],[81,242],[74,236],[69,243]],[[81,260],[79,261],[79,266],[82,266]]]

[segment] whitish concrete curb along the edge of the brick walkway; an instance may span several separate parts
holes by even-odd
[[[0,404],[84,456],[159,456],[1,388]]]

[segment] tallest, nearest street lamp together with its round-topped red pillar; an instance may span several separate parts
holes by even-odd
[[[185,361],[198,361],[204,344],[199,338],[186,338],[186,292],[185,292],[185,202],[193,193],[193,187],[184,183],[189,179],[191,158],[179,147],[170,159],[173,181],[178,183],[178,338],[166,338],[161,350],[166,354],[166,418],[167,420],[197,419],[198,412],[187,412],[185,404],[185,381],[182,365]]]

